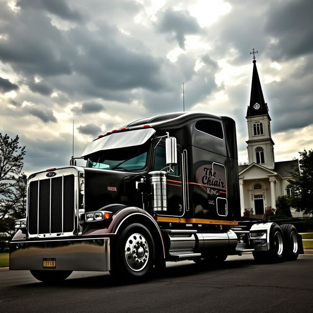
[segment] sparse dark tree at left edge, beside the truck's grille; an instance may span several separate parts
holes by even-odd
[[[22,173],[25,147],[19,136],[0,133],[0,220],[25,215],[26,175]]]

